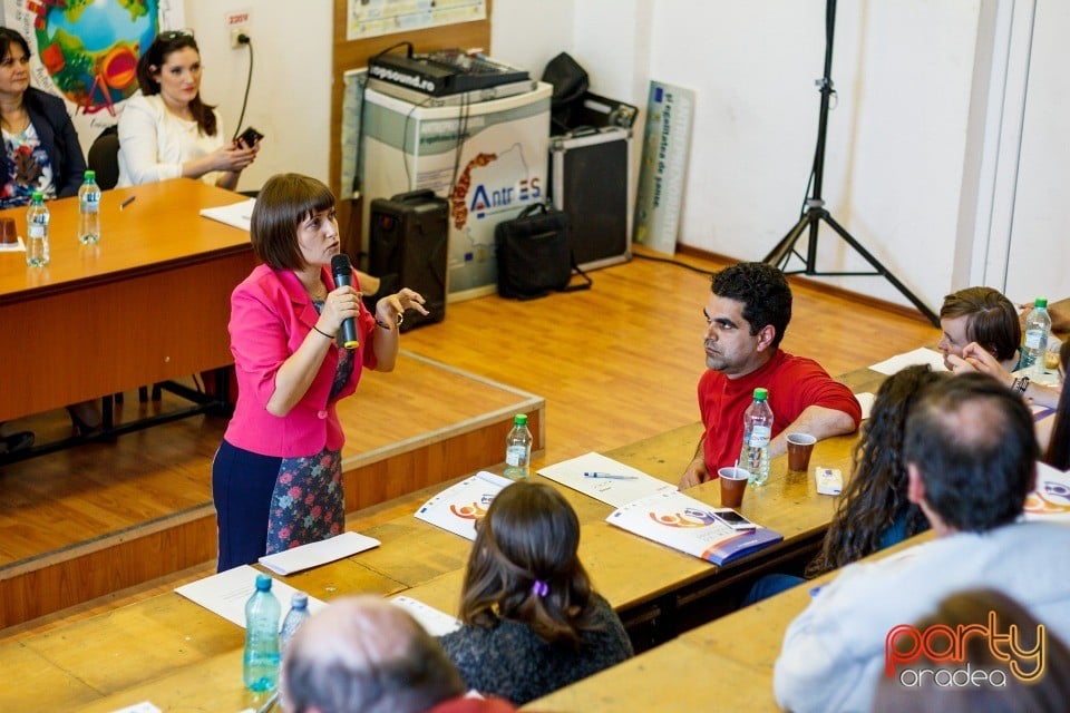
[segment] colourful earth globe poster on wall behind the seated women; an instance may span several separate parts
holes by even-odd
[[[183,27],[182,0],[3,0],[3,25],[30,45],[35,87],[62,97],[82,146],[137,91],[137,58]]]

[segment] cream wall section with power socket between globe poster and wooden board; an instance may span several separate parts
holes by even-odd
[[[256,163],[239,188],[259,188],[281,172],[329,180],[331,119],[331,0],[185,0],[186,25],[197,37],[204,79],[201,94],[218,106],[233,134],[249,52],[231,49],[225,16],[249,11],[253,84],[243,125],[266,135]]]

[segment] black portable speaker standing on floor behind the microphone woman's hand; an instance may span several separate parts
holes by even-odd
[[[431,191],[412,191],[371,202],[368,272],[379,277],[374,301],[401,287],[424,295],[428,314],[409,312],[401,331],[441,322],[446,316],[449,203]]]

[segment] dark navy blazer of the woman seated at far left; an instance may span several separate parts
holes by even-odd
[[[86,158],[64,100],[29,87],[22,95],[22,106],[37,129],[41,148],[52,163],[56,197],[78,195],[78,186],[81,185],[82,174],[86,172]],[[11,175],[11,162],[4,150],[0,150],[0,176]]]

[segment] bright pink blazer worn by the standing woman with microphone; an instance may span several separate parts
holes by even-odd
[[[334,280],[323,270],[331,290]],[[357,285],[353,275],[353,285]],[[289,270],[259,265],[231,294],[231,353],[237,374],[237,404],[223,438],[232,446],[262,456],[283,458],[314,456],[324,446],[340,450],[346,442],[334,404],[357,390],[364,367],[376,368],[371,349],[376,320],[363,307],[357,320],[360,345],[353,373],[337,399],[328,400],[338,350],[330,349],[308,392],[290,412],[280,418],[268,412],[275,391],[279,367],[298,350],[312,331],[319,313],[301,281]]]

